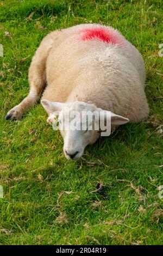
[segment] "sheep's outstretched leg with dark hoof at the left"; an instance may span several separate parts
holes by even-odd
[[[30,84],[30,92],[28,96],[25,97],[20,104],[10,109],[5,116],[5,120],[21,119],[24,112],[26,112],[28,108],[34,106],[36,101],[39,100],[46,83],[46,60],[54,42],[53,35],[55,35],[55,32],[47,35],[42,40],[40,47],[37,49],[32,59],[28,74]]]

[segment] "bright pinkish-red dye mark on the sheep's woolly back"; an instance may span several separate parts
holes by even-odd
[[[81,31],[80,31],[81,32]],[[121,34],[119,34],[114,29],[106,29],[106,28],[84,28],[82,29],[83,36],[82,40],[91,40],[91,39],[99,39],[103,42],[106,42],[113,45],[123,46],[125,39]]]

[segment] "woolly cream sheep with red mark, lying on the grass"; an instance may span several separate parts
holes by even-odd
[[[141,54],[116,29],[97,24],[60,29],[43,38],[29,68],[30,92],[5,119],[20,119],[41,97],[48,121],[59,115],[66,158],[77,160],[101,136],[95,129],[99,121],[110,120],[113,128],[148,116],[145,80]],[[84,131],[66,130],[61,117],[67,108],[80,116],[83,111],[102,115],[88,121]]]

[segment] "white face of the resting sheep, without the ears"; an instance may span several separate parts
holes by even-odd
[[[95,130],[95,118],[86,116],[87,110],[89,109],[91,115],[94,108],[95,106],[91,105],[88,108],[86,103],[74,102],[68,106],[70,114],[68,118],[66,118],[67,106],[61,110],[58,118],[59,130],[64,138],[64,153],[67,159],[79,159],[85,147],[99,138],[100,133]],[[65,127],[67,122],[70,127]]]

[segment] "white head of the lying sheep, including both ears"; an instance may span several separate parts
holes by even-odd
[[[109,136],[111,125],[129,121],[82,101],[60,103],[41,100],[41,104],[49,114],[48,123],[52,123],[54,130],[59,128],[64,138],[64,153],[69,160],[79,159],[86,145],[95,143],[101,135]]]

